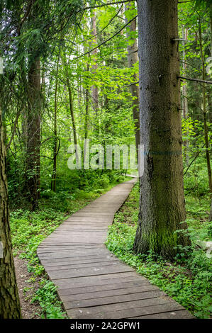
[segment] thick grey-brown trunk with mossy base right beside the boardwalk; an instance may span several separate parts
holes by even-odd
[[[173,259],[186,228],[177,43],[177,0],[138,0],[140,130],[145,146],[134,250]],[[182,224],[181,224],[182,222]]]

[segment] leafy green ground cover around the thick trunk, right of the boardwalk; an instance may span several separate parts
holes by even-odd
[[[198,318],[209,318],[211,308],[211,259],[202,249],[196,247],[197,239],[211,239],[211,222],[208,222],[206,198],[196,199],[186,196],[188,232],[192,247],[189,256],[187,248],[179,248],[174,262],[164,261],[153,253],[135,255],[133,242],[138,221],[138,184],[133,188],[128,200],[115,215],[109,227],[106,247],[126,264],[164,290]]]

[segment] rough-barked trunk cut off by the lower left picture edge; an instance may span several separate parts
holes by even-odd
[[[0,319],[21,318],[21,306],[11,247],[6,183],[6,151],[0,111]]]

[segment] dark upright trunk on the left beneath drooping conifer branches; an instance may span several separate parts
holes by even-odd
[[[35,58],[28,70],[27,187],[32,210],[40,198],[40,60]]]

